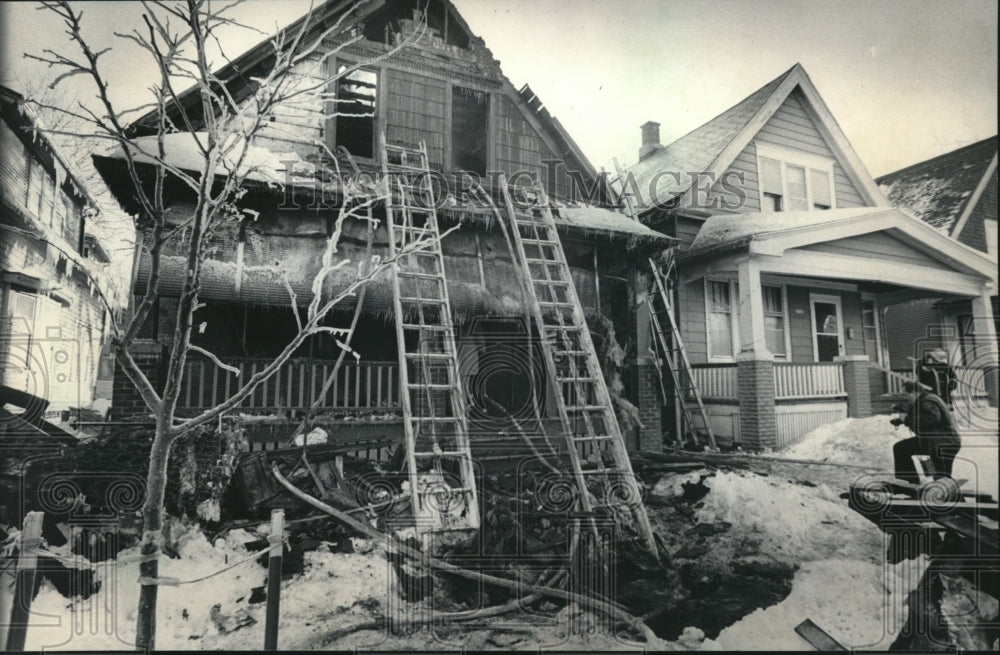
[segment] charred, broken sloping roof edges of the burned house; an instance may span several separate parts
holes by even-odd
[[[314,11],[312,16],[313,24],[304,35],[304,40],[316,38],[329,29],[336,21],[341,21],[341,30],[347,31],[363,19],[372,16],[376,12],[385,10],[395,3],[404,4],[401,0],[325,0]],[[482,39],[477,37],[469,24],[465,21],[458,9],[451,0],[440,0],[445,11],[457,26],[465,33],[473,44],[473,47],[481,48],[485,58],[490,65],[480,70],[492,69],[492,73],[499,78],[502,91],[517,106],[524,118],[542,133],[543,139],[552,148],[556,156],[566,159],[575,159],[577,170],[583,170],[590,178],[597,177],[597,170],[583,153],[577,143],[566,133],[562,124],[545,109],[542,102],[534,92],[525,84],[520,90],[514,88],[507,76],[500,69],[500,62],[493,58],[493,53],[485,47]],[[419,5],[420,3],[418,3]],[[308,16],[303,16],[294,21],[279,34],[294,35],[300,31]],[[343,20],[341,20],[343,18]],[[234,102],[240,103],[248,98],[257,88],[254,77],[259,75],[261,70],[267,69],[274,64],[274,38],[269,37],[262,40],[243,54],[233,59],[229,64],[215,71],[215,76],[225,85],[227,96],[233,98]],[[177,100],[167,108],[167,115],[175,125],[180,125],[180,114],[178,105],[191,119],[194,130],[204,127],[202,118],[201,98],[197,89],[192,86],[178,94]],[[156,110],[151,110],[133,121],[128,126],[130,136],[149,136],[156,134],[158,118]]]

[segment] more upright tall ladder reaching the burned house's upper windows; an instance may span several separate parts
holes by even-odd
[[[479,504],[427,149],[380,139],[389,255],[398,257],[390,269],[416,530],[422,538],[472,530]],[[428,244],[413,250],[422,239]]]

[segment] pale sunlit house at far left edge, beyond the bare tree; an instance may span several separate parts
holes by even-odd
[[[0,117],[0,384],[13,394],[0,406],[34,397],[50,415],[86,407],[108,320],[109,258],[88,230],[96,205],[6,87]]]

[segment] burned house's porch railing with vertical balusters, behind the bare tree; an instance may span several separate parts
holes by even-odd
[[[183,409],[214,407],[230,397],[240,385],[270,363],[269,359],[224,358],[240,370],[239,377],[219,369],[212,362],[193,357],[185,365],[179,405]],[[396,362],[344,361],[337,377],[322,398],[324,409],[385,410],[399,407],[399,380]],[[300,410],[312,406],[333,371],[333,362],[292,360],[270,379],[260,384],[240,404],[250,413]]]

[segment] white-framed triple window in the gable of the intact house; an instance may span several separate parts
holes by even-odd
[[[757,144],[761,211],[832,209],[833,160]]]

